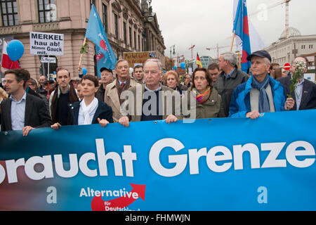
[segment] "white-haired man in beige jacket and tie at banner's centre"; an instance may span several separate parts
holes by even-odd
[[[144,65],[145,84],[124,92],[127,100],[121,105],[124,116],[119,119],[124,127],[129,127],[129,122],[166,120],[171,123],[182,119],[180,111],[176,112],[180,110],[180,94],[160,83],[162,71],[159,60],[147,60]]]

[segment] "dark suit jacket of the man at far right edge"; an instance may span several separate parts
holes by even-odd
[[[284,86],[285,98],[290,94],[290,86],[291,86],[291,77],[280,77],[277,79]],[[292,94],[292,98],[294,98],[295,105],[292,110],[296,110],[296,96]],[[316,109],[316,84],[310,82],[307,79],[304,79],[303,82],[303,92],[302,92],[302,100],[299,110],[311,110]]]

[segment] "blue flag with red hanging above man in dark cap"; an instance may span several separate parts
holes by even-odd
[[[251,54],[250,36],[249,36],[249,23],[246,0],[239,0],[236,16],[234,20],[234,28],[236,37],[242,44],[242,71],[248,72],[251,63],[247,57]]]

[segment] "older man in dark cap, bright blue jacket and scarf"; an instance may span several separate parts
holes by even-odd
[[[256,51],[247,60],[251,61],[252,76],[235,89],[229,117],[249,117],[254,120],[261,113],[291,110],[294,99],[285,99],[282,84],[268,75],[270,54],[267,51]]]

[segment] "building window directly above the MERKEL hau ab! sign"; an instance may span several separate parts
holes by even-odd
[[[56,20],[55,0],[37,0],[39,4],[39,23],[50,23]]]

